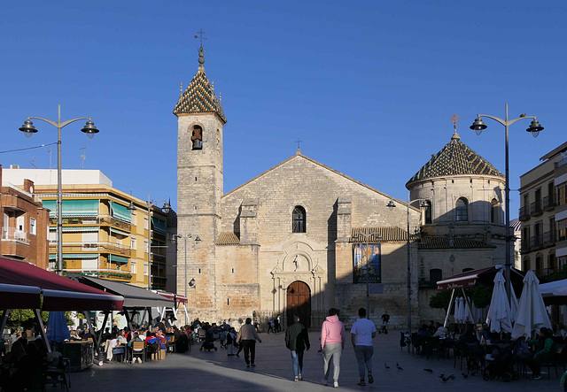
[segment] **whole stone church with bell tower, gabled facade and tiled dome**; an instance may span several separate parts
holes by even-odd
[[[174,110],[177,233],[201,240],[177,250],[177,292],[189,287],[191,318],[263,324],[281,314],[285,324],[297,312],[318,327],[336,307],[348,325],[368,303],[370,319],[388,311],[392,326],[405,327],[409,290],[416,326],[442,315],[428,304],[435,282],[503,261],[503,176],[460,141],[456,126],[408,181],[410,205],[299,149],[225,194],[227,119],[203,48],[198,63]]]

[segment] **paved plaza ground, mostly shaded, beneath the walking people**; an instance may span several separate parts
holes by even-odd
[[[217,391],[322,391],[330,390],[324,387],[322,380],[322,357],[317,353],[319,334],[310,333],[312,349],[306,352],[303,369],[303,381],[293,382],[291,371],[290,351],[283,343],[284,334],[260,334],[261,343],[256,345],[256,367],[246,368],[244,352],[240,358],[228,357],[227,351],[201,352],[200,344],[183,354],[173,354],[160,361],[144,364],[105,364],[102,367],[93,366],[81,373],[72,373],[71,390],[82,392],[110,391],[177,391],[177,390],[217,390]],[[341,373],[338,380],[339,388],[343,390],[382,390],[382,391],[416,391],[416,390],[459,390],[472,391],[553,391],[563,390],[559,387],[559,377],[552,369],[551,380],[548,380],[547,369],[542,369],[541,380],[521,379],[503,382],[501,379],[488,380],[476,375],[464,379],[457,368],[454,369],[453,358],[436,359],[413,357],[404,349],[400,352],[400,332],[378,334],[374,339],[374,384],[359,387],[358,367],[350,344],[350,334],[347,333],[347,345],[341,358]],[[384,368],[384,363],[391,366]],[[396,370],[396,363],[403,371]],[[433,373],[423,371],[432,369]],[[561,371],[560,376],[561,376]],[[455,380],[443,382],[439,374],[446,376],[454,373]],[[331,382],[332,384],[332,382]],[[55,388],[48,387],[50,390]]]

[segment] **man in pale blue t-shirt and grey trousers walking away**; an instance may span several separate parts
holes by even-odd
[[[369,373],[369,383],[374,382],[374,378],[372,378],[372,355],[374,354],[372,339],[376,337],[377,329],[374,323],[366,318],[366,309],[359,309],[358,316],[360,319],[355,321],[351,328],[351,342],[358,362],[358,373],[361,376],[358,385],[364,387],[366,385],[364,380],[365,370],[368,370]]]

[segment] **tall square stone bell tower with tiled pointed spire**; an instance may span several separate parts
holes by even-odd
[[[174,109],[178,126],[177,234],[185,237],[177,245],[176,287],[177,294],[187,293],[189,306],[199,316],[215,319],[214,243],[221,225],[222,127],[227,119],[204,64],[201,46],[198,71],[184,91],[182,84]],[[192,237],[186,238],[187,234]],[[197,236],[201,241],[195,241]]]

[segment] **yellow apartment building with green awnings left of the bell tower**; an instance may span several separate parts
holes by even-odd
[[[34,180],[35,194],[50,210],[45,238],[50,270],[57,270],[57,171],[14,168],[4,170],[4,177],[21,187],[24,179]],[[85,273],[143,288],[166,287],[164,212],[113,188],[98,170],[63,170],[62,189],[64,273]]]

